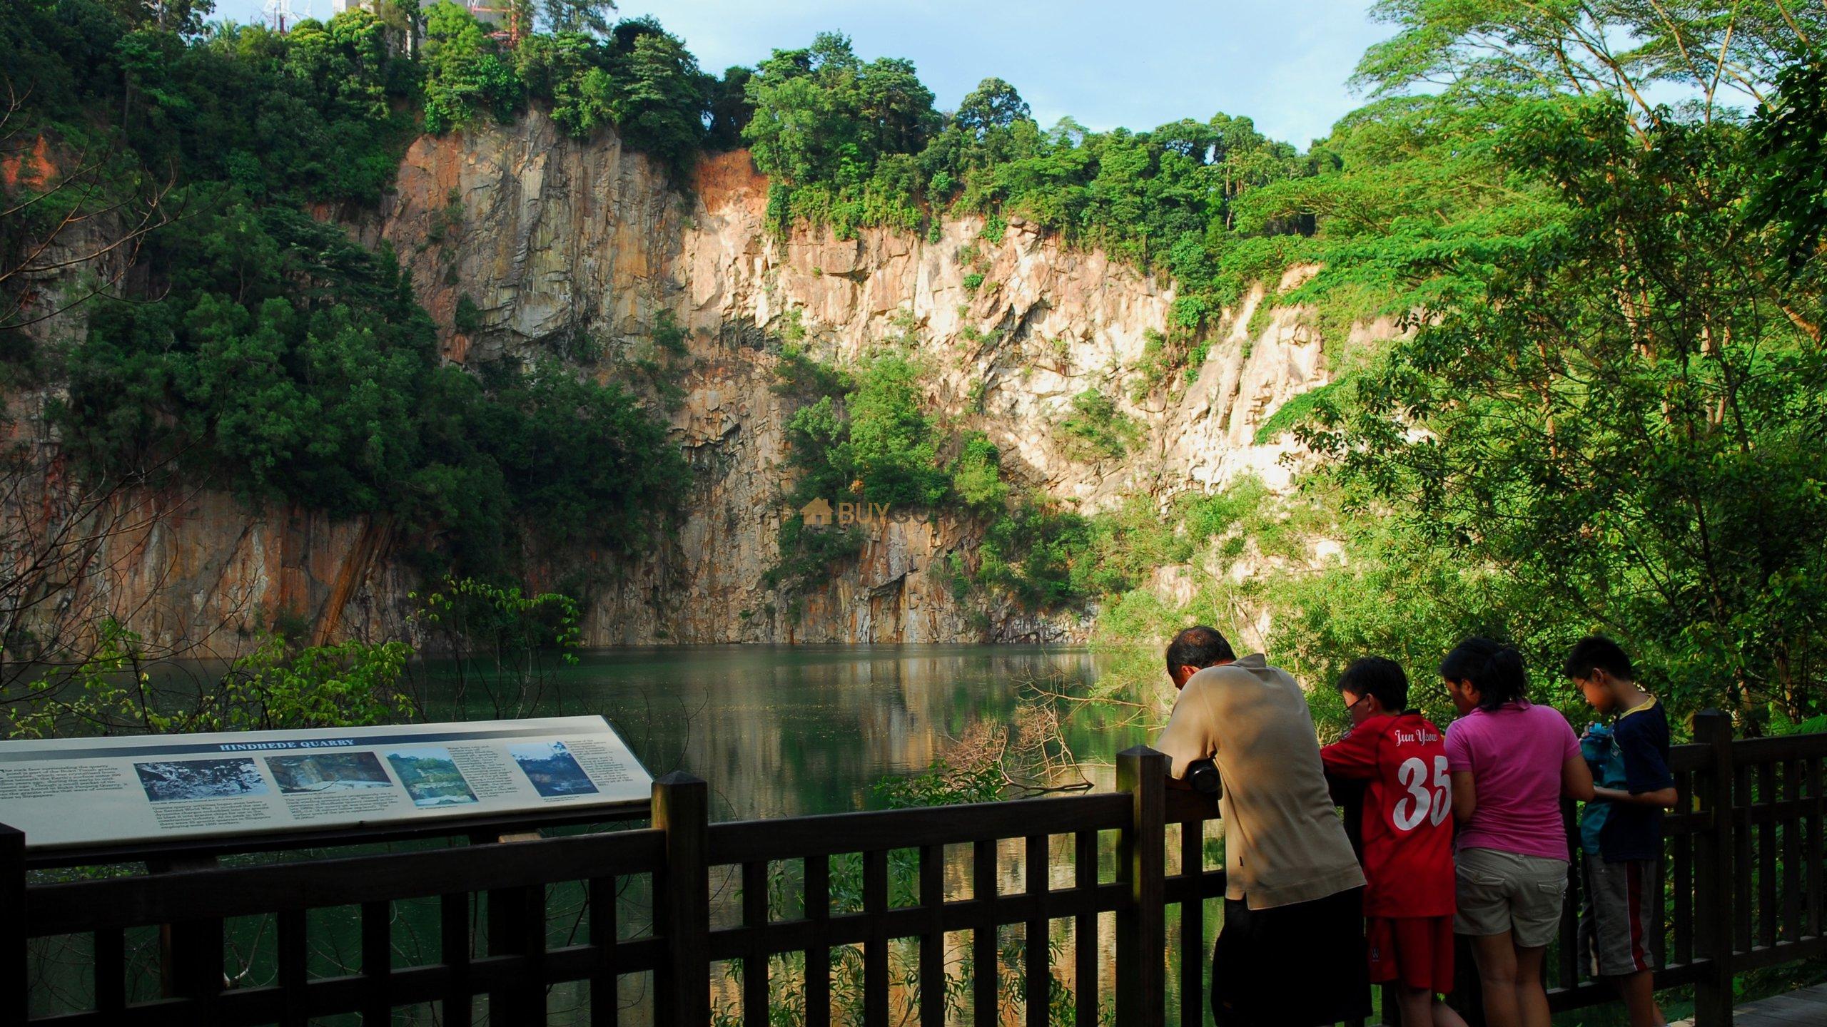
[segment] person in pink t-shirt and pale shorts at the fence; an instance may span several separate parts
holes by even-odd
[[[1469,638],[1440,662],[1460,718],[1447,727],[1458,914],[1471,936],[1489,1027],[1549,1027],[1542,967],[1568,892],[1560,797],[1593,778],[1564,716],[1531,705],[1522,654]]]

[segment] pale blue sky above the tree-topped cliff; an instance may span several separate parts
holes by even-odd
[[[292,0],[329,16],[331,0]],[[1215,111],[1248,115],[1303,150],[1357,106],[1345,88],[1363,49],[1389,35],[1367,0],[623,0],[654,15],[707,71],[755,64],[824,29],[848,33],[864,58],[908,57],[952,108],[998,75],[1041,124],[1072,115],[1091,128],[1153,128]],[[261,0],[217,0],[250,22]]]

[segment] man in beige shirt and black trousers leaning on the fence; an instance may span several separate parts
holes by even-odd
[[[1306,694],[1209,627],[1167,645],[1180,689],[1156,749],[1173,782],[1209,758],[1222,780],[1224,928],[1211,954],[1220,1027],[1321,1027],[1370,1016],[1363,884],[1326,789]]]

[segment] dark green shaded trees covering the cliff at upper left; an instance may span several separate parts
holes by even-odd
[[[649,404],[557,362],[444,364],[393,254],[303,206],[378,199],[420,117],[446,130],[530,101],[683,166],[705,77],[650,22],[510,49],[451,4],[376,7],[280,35],[203,26],[203,4],[9,4],[9,137],[95,168],[18,205],[9,254],[71,214],[146,210],[150,228],[122,250],[132,274],[77,311],[80,336],[15,336],[5,378],[68,382],[51,415],[91,471],[175,468],[250,503],[384,515],[431,566],[512,576],[523,541],[639,548],[683,482]],[[457,322],[475,320],[466,303]]]

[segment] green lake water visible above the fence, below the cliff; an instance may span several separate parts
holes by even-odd
[[[1107,663],[1034,645],[596,649],[548,669],[528,715],[607,716],[654,777],[705,778],[718,821],[842,813],[879,806],[871,791],[884,777],[1009,725],[1034,685],[1082,696]],[[424,678],[429,718],[493,716],[479,682],[440,663]],[[1114,755],[1147,740],[1127,713],[1074,704],[1061,722],[1060,740],[1100,788]]]

